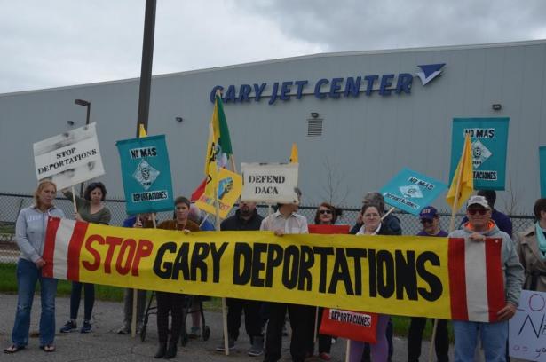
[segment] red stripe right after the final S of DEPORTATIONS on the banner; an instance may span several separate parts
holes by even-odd
[[[468,320],[464,265],[464,239],[450,238],[447,248],[447,268],[451,295],[451,319]]]

